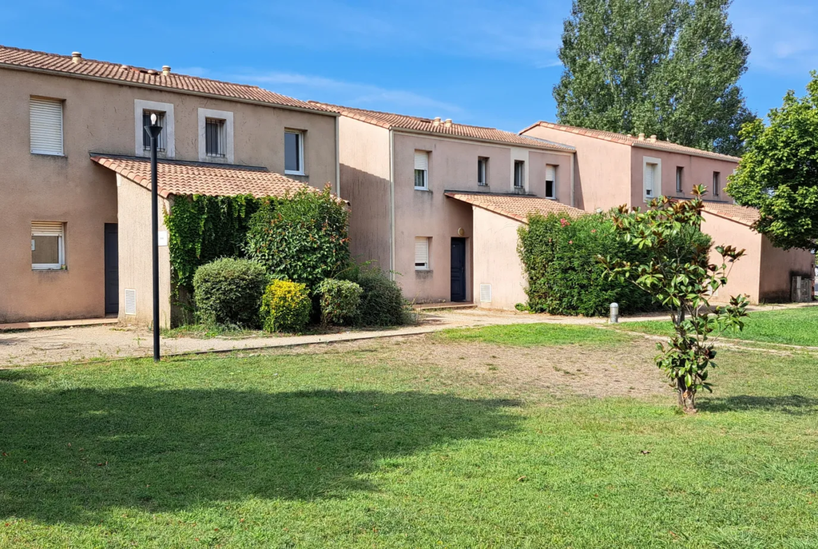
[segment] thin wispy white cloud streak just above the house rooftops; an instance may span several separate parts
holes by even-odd
[[[366,83],[345,82],[310,74],[272,72],[266,74],[239,74],[233,77],[239,82],[270,86],[277,92],[290,92],[296,97],[312,97],[332,103],[347,104],[376,110],[398,110],[406,114],[428,116],[461,115],[464,110],[447,101],[439,101],[416,92],[381,88]],[[283,90],[282,88],[287,88]],[[293,90],[293,91],[290,91]],[[407,113],[407,110],[415,112]],[[424,110],[424,112],[417,112]]]

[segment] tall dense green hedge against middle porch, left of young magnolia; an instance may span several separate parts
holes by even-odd
[[[598,254],[643,260],[645,252],[620,240],[609,214],[532,215],[519,227],[518,252],[528,275],[528,308],[534,313],[587,317],[658,308],[646,292],[627,281],[610,280]]]

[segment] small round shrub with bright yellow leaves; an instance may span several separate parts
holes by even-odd
[[[264,331],[301,331],[309,322],[311,310],[312,300],[306,285],[274,280],[261,299]]]

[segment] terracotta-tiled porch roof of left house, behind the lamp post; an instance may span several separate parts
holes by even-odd
[[[91,160],[146,189],[151,188],[150,160],[95,154]],[[160,160],[157,169],[156,192],[164,198],[171,195],[253,195],[258,198],[291,195],[303,188],[313,188],[266,168]]]

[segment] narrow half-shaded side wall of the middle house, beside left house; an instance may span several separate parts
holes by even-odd
[[[339,119],[341,196],[349,201],[349,250],[389,271],[389,130]]]

